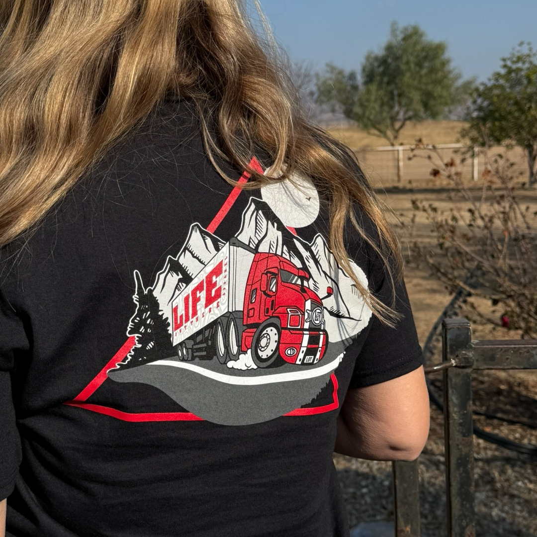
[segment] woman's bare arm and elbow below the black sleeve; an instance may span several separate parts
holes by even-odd
[[[335,451],[360,459],[411,461],[429,435],[423,367],[396,379],[349,390],[337,422]]]

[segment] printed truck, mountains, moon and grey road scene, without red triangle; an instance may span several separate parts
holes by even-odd
[[[263,422],[313,401],[372,315],[324,237],[309,243],[297,235],[318,211],[315,188],[301,180],[299,188],[285,182],[250,198],[228,242],[192,224],[153,285],[134,272],[127,335],[136,344],[108,377],[151,384],[226,425]]]

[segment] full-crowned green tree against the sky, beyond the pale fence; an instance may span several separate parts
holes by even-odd
[[[465,97],[444,42],[427,39],[417,25],[391,25],[380,52],[368,52],[361,67],[346,72],[327,64],[316,77],[317,101],[342,108],[349,119],[395,145],[408,121],[438,119]]]

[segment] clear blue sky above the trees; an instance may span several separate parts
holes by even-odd
[[[520,41],[537,48],[537,0],[259,0],[275,38],[294,61],[359,70],[388,39],[391,21],[418,24],[446,41],[463,76],[486,79]]]

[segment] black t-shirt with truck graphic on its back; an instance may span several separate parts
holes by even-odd
[[[404,286],[404,319],[387,328],[327,226],[305,178],[230,186],[191,107],[166,101],[6,246],[7,534],[348,535],[331,459],[340,404],[422,358]],[[389,301],[378,256],[349,244]]]

